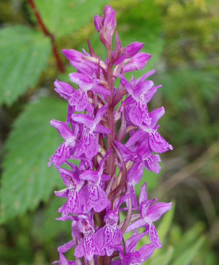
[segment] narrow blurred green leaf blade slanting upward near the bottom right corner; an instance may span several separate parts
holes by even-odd
[[[205,239],[206,237],[200,236],[195,243],[190,245],[181,255],[179,255],[172,265],[190,265]]]

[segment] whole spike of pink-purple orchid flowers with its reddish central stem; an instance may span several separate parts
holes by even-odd
[[[48,166],[54,163],[66,186],[55,191],[56,196],[67,197],[57,219],[72,220],[73,239],[58,247],[60,260],[54,264],[142,264],[162,246],[153,222],[171,208],[171,203],[154,203],[157,199],[147,198],[146,182],[138,202],[135,194],[143,167],[160,171],[160,156],[153,151],[172,150],[158,132],[157,122],[164,115],[164,107],[151,112],[147,108],[161,85],[154,86],[147,79],[155,70],[137,80],[124,77],[125,72],[142,69],[151,55],[139,52],[143,43],[122,47],[115,31],[115,11],[110,6],[105,6],[102,17],[95,15],[94,26],[107,58],[102,60],[89,41],[89,53],[63,50],[78,70],[69,74],[78,88],[55,80],[55,91],[68,101],[68,109],[65,122],[51,121],[64,141]],[[118,87],[114,86],[116,79],[120,80]],[[80,159],[79,166],[69,159]],[[63,163],[68,169],[61,167]],[[133,210],[139,213],[133,214]],[[124,220],[120,220],[120,212],[124,212]],[[138,234],[139,227],[144,231]],[[124,242],[123,234],[131,231],[132,236]],[[150,243],[136,250],[138,240],[146,234]],[[72,247],[75,260],[67,261],[63,253]]]

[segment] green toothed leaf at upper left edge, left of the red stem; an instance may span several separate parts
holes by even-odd
[[[50,40],[25,26],[0,30],[0,104],[11,105],[35,85],[50,55]]]

